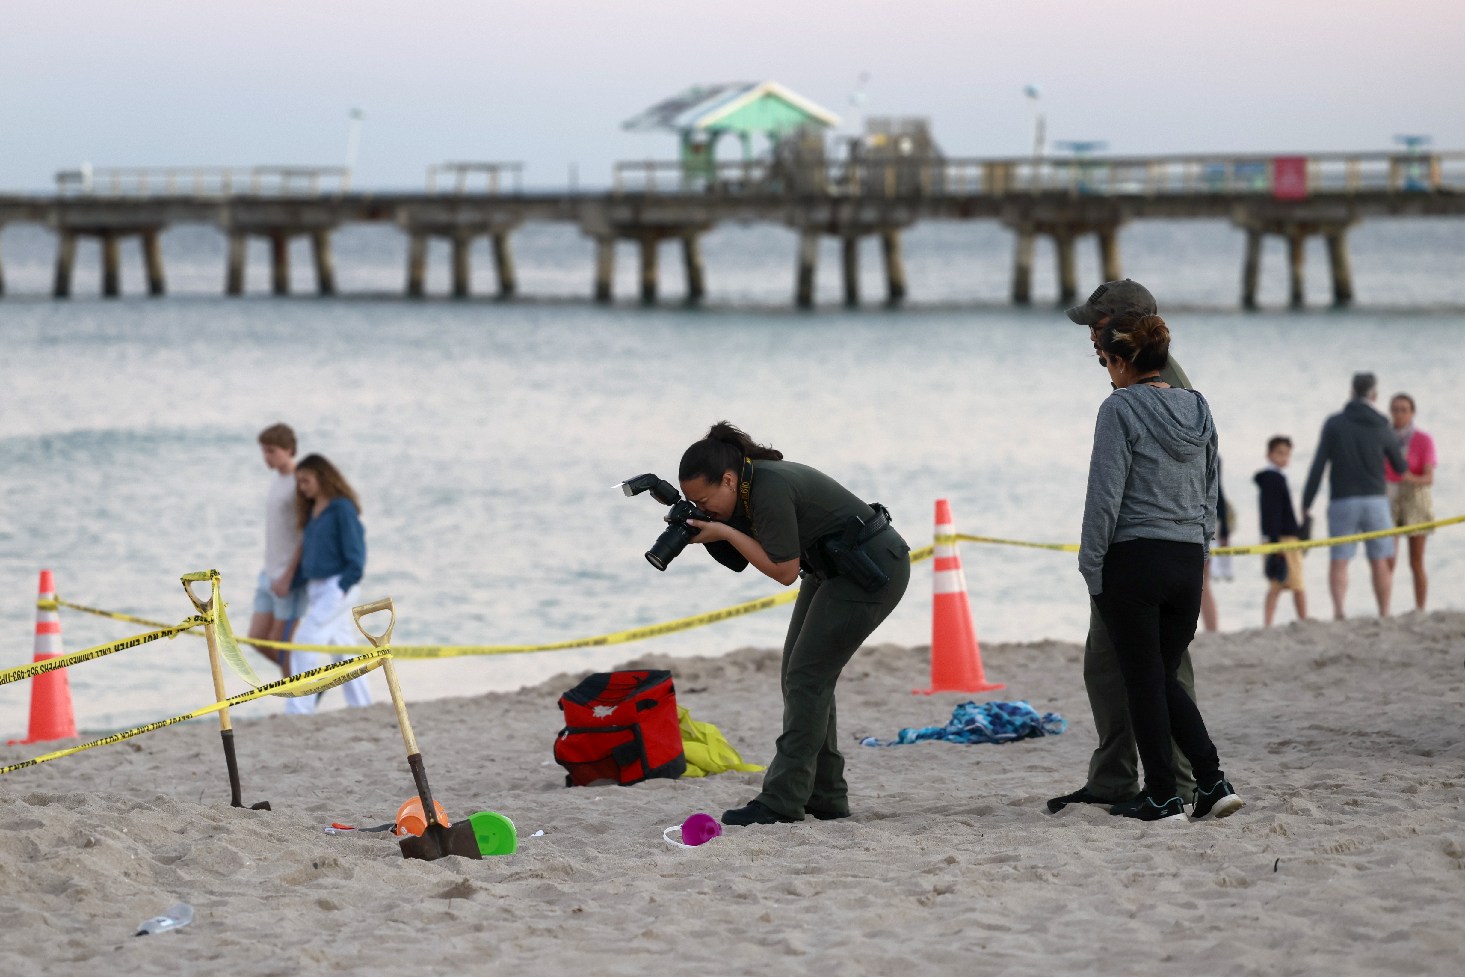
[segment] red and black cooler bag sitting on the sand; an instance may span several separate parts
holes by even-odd
[[[564,729],[554,741],[554,759],[567,770],[565,787],[602,778],[639,784],[687,772],[668,671],[596,672],[560,696],[560,709]]]

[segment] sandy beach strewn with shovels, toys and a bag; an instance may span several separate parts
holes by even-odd
[[[1247,807],[1194,825],[1049,816],[1094,746],[1081,647],[984,656],[1008,683],[987,697],[1061,712],[1068,732],[861,747],[964,700],[910,694],[926,649],[861,649],[839,686],[854,816],[728,829],[693,851],[662,828],[746,803],[760,775],[565,790],[549,748],[571,675],[413,706],[448,813],[519,826],[517,854],[482,861],[404,861],[387,836],[322,832],[390,820],[413,792],[385,705],[240,724],[245,800],[268,813],[227,806],[211,722],[21,770],[0,778],[0,970],[1459,973],[1465,614],[1197,639],[1201,707]],[[671,668],[681,705],[769,759],[776,652],[633,665]],[[404,686],[438,666],[404,664]],[[176,901],[190,926],[132,936]]]

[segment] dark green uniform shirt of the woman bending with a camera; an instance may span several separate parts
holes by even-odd
[[[774,562],[797,560],[815,540],[842,532],[851,516],[875,510],[832,478],[797,461],[754,461],[753,535]]]

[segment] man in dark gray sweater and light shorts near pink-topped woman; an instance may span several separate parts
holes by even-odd
[[[1317,442],[1313,469],[1307,473],[1307,488],[1302,489],[1302,520],[1313,508],[1317,489],[1323,485],[1323,469],[1333,466],[1330,478],[1330,501],[1327,502],[1327,535],[1352,536],[1393,527],[1393,513],[1384,491],[1384,458],[1393,470],[1403,475],[1409,466],[1399,451],[1389,419],[1374,410],[1379,398],[1379,379],[1373,374],[1354,374],[1354,397],[1340,413],[1323,425],[1323,437]],[[1389,596],[1393,592],[1393,571],[1389,557],[1393,555],[1393,536],[1364,540],[1368,554],[1368,568],[1373,571],[1374,599],[1379,601],[1379,617],[1389,617]],[[1358,543],[1342,543],[1332,548],[1332,562],[1327,567],[1327,587],[1333,593],[1333,620],[1343,620],[1343,601],[1348,598],[1348,561],[1358,552]]]

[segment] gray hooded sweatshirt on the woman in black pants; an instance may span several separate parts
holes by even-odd
[[[1216,533],[1216,423],[1194,390],[1109,394],[1094,423],[1078,571],[1103,593],[1103,558],[1127,539],[1207,545]]]

